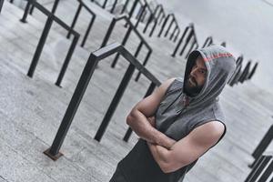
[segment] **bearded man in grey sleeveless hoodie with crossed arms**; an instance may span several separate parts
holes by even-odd
[[[193,51],[184,79],[167,80],[127,116],[140,139],[110,182],[182,181],[225,135],[218,96],[235,68],[235,58],[222,46]]]

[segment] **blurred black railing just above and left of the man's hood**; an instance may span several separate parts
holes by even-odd
[[[187,38],[186,38],[186,36],[187,36]],[[182,56],[184,54],[187,46],[190,44],[191,45],[188,48],[188,51],[187,51],[187,54],[185,57],[187,57],[193,49],[198,48],[196,31],[195,31],[194,25],[190,24],[190,25],[187,25],[187,27],[185,28],[185,30],[184,30],[183,34],[181,35],[181,37],[177,43],[177,46],[175,47],[175,50],[171,56],[175,57],[177,55],[177,51],[180,48],[180,46],[182,45],[182,43],[184,42],[185,38],[186,38],[186,41],[180,51],[179,56]]]

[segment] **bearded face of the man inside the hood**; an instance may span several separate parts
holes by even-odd
[[[189,96],[196,96],[205,84],[207,77],[207,67],[201,56],[197,57],[196,63],[192,67],[186,80],[186,92]]]

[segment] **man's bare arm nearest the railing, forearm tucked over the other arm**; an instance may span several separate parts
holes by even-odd
[[[172,147],[176,141],[158,131],[150,124],[147,117],[155,116],[157,107],[165,96],[167,87],[170,86],[174,80],[175,78],[168,79],[159,86],[153,94],[137,103],[126,118],[127,125],[136,132],[137,136],[150,143],[167,148]]]

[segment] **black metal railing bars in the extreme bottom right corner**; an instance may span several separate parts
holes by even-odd
[[[273,153],[262,155],[258,157],[257,163],[249,173],[245,182],[272,182],[273,177]],[[271,176],[271,179],[269,177]]]

